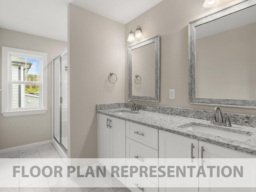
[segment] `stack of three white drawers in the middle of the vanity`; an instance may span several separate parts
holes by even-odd
[[[126,121],[126,164],[158,166],[158,130]],[[158,174],[158,172],[156,172]],[[132,192],[158,192],[158,178],[139,176],[127,178]],[[150,186],[150,187],[149,187]]]

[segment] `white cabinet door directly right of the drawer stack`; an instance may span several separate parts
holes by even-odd
[[[192,146],[192,148],[191,148]],[[191,159],[191,155],[195,159]],[[198,167],[198,140],[180,136],[177,134],[159,131],[159,165],[168,166],[168,159],[170,158],[186,158],[187,166]],[[169,161],[170,162],[170,161]],[[182,163],[180,164],[182,165]],[[187,180],[186,180],[187,181]],[[193,188],[159,188],[160,192],[198,192],[198,179],[192,178],[190,180]],[[168,186],[168,183],[177,183],[182,186],[181,180],[176,178],[159,178],[160,186]],[[191,186],[191,185],[190,185]]]

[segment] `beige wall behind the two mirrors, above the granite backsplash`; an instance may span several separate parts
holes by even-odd
[[[141,41],[156,35],[160,35],[161,38],[160,103],[140,103],[213,110],[212,106],[188,104],[188,22],[239,1],[220,1],[220,5],[217,7],[204,8],[203,0],[163,0],[126,24],[126,39],[131,28],[138,25],[142,28],[144,36]],[[126,41],[126,101],[128,100],[128,46],[138,42]],[[175,100],[169,100],[169,89],[175,89]],[[256,115],[255,109],[222,107],[222,111]]]

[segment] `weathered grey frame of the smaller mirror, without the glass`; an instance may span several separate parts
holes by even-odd
[[[132,50],[145,46],[147,44],[155,43],[155,96],[132,96]],[[141,100],[141,101],[152,101],[160,102],[160,36],[152,37],[146,41],[140,42],[136,45],[130,46],[128,48],[128,88],[129,88],[129,99],[131,100]]]

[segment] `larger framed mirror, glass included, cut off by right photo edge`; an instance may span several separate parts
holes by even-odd
[[[256,0],[188,27],[189,103],[256,108]]]

